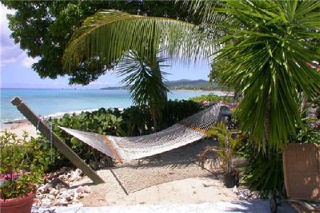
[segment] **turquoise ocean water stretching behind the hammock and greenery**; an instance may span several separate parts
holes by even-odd
[[[189,99],[208,91],[175,90],[168,93],[169,99]],[[214,94],[224,95],[215,91]],[[128,90],[114,89],[1,89],[1,124],[24,119],[13,107],[11,99],[21,97],[23,102],[40,116],[61,116],[65,113],[92,111],[101,107],[125,108],[132,105]]]

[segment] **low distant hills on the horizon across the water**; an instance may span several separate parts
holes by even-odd
[[[170,90],[175,89],[188,89],[188,90],[217,90],[221,89],[218,84],[216,83],[210,83],[206,80],[175,80],[175,81],[167,81],[165,82],[167,87]],[[126,86],[120,86],[120,87],[104,87],[101,89],[129,89],[129,87]],[[225,89],[225,88],[224,88]]]

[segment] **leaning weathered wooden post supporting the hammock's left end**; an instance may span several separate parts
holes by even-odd
[[[104,183],[104,180],[100,178],[99,175],[97,175],[92,168],[89,167],[84,161],[79,158],[79,156],[72,151],[72,149],[67,146],[63,141],[60,140],[60,138],[54,133],[50,132],[50,128],[43,123],[43,121],[40,120],[40,118],[33,113],[33,111],[22,102],[22,99],[19,97],[15,97],[11,100],[11,103],[16,106],[18,111],[20,111],[23,116],[28,119],[33,126],[38,127],[38,130],[40,133],[43,133],[43,135],[48,138],[50,141],[50,138],[52,137],[52,143],[53,146],[57,148],[57,150],[62,153],[62,155],[65,155],[66,158],[68,158],[73,165],[75,165],[77,168],[82,170],[84,174],[86,174],[95,184]]]

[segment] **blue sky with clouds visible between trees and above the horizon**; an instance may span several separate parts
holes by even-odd
[[[68,84],[68,77],[58,77],[55,80],[48,78],[41,79],[31,65],[38,61],[38,58],[28,58],[26,51],[21,50],[19,44],[15,44],[10,38],[11,31],[8,27],[9,21],[6,14],[14,13],[0,4],[0,88],[40,88],[40,89],[99,89],[101,87],[113,87],[120,85],[121,79],[114,73],[108,72],[102,75],[95,82],[87,86]],[[207,60],[186,65],[182,62],[167,62],[168,67],[162,71],[167,72],[167,80],[208,80],[211,70]]]

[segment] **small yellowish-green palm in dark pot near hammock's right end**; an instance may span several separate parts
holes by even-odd
[[[224,185],[234,187],[238,185],[238,170],[236,170],[234,159],[236,158],[236,149],[240,143],[235,131],[228,130],[224,122],[219,122],[213,126],[206,134],[219,141],[218,147],[208,147],[201,155],[201,164],[204,168],[204,162],[211,153],[211,168],[222,168],[224,170]]]

